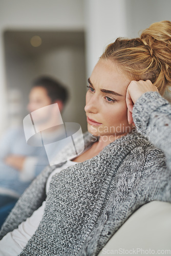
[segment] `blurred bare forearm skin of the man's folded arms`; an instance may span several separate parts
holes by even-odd
[[[26,157],[24,157],[24,156],[9,155],[8,157],[6,157],[4,159],[4,161],[6,164],[21,171],[23,169],[25,159],[26,159]]]

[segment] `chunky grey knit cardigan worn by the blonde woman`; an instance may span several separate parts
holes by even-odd
[[[171,106],[158,93],[145,93],[134,105],[133,118],[139,133],[56,174],[46,198],[46,181],[55,166],[47,167],[13,208],[1,238],[46,198],[45,214],[20,255],[93,256],[140,206],[171,202]],[[85,146],[93,140],[87,133]],[[61,161],[64,153],[72,155],[70,147],[58,155]]]

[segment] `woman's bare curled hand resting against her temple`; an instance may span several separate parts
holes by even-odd
[[[146,92],[158,92],[150,80],[131,81],[126,91],[127,120],[134,125],[132,112],[135,102]]]

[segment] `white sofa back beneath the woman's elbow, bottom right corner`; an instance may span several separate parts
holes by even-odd
[[[105,254],[171,254],[171,204],[153,201],[141,206],[118,229],[98,256]]]

